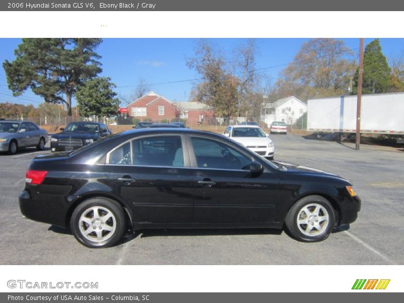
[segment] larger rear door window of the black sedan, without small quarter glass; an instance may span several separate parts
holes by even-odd
[[[132,141],[133,165],[183,167],[181,136],[143,137]]]

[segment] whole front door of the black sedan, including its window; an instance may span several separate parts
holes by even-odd
[[[194,167],[195,223],[269,223],[279,202],[279,178],[270,171],[254,175],[252,159],[219,140],[190,137]]]

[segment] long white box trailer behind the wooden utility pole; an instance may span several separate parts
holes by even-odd
[[[355,133],[357,96],[308,100],[307,130]],[[404,134],[404,92],[362,95],[361,133]]]

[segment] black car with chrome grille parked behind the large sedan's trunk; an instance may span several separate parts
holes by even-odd
[[[60,130],[51,137],[52,152],[78,149],[112,134],[112,130],[99,122],[71,122]]]

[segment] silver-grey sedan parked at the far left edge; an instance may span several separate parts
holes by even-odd
[[[0,121],[0,151],[14,155],[21,148],[35,146],[43,150],[47,142],[47,132],[29,121]]]

